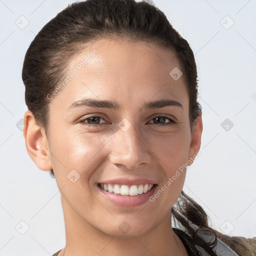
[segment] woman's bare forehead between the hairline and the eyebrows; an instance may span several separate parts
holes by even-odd
[[[70,59],[66,75],[75,74],[56,98],[182,100],[187,95],[184,75],[173,79],[172,70],[182,70],[176,53],[156,43],[99,39]]]

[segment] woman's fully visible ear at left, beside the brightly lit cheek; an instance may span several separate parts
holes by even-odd
[[[43,128],[40,128],[31,111],[24,114],[23,136],[25,138],[26,150],[41,170],[51,170],[50,152],[48,140]]]

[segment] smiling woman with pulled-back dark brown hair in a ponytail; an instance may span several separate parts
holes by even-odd
[[[254,239],[212,229],[182,191],[201,108],[193,52],[163,12],[73,3],[35,36],[22,79],[28,154],[61,193],[54,256],[255,255]]]

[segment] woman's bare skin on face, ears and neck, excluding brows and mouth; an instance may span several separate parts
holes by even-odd
[[[61,189],[66,246],[58,255],[188,255],[171,229],[170,218],[186,171],[154,202],[135,207],[114,205],[96,186],[96,182],[116,177],[148,178],[156,181],[157,191],[182,163],[197,154],[201,114],[191,133],[184,75],[178,80],[169,75],[174,67],[182,67],[172,51],[157,44],[100,39],[73,57],[67,73],[94,48],[98,54],[50,100],[47,134],[30,111],[24,114],[27,152],[39,169],[53,168]],[[85,96],[115,100],[121,108],[67,110]],[[180,102],[183,109],[142,107],[145,101],[162,98]],[[96,120],[105,123],[103,126],[95,127],[88,119],[78,122],[95,115],[103,117]],[[161,126],[160,121],[153,121],[161,115],[176,123]],[[131,125],[126,131],[118,126],[123,118],[128,120],[125,125]],[[163,122],[170,123],[168,118]],[[74,183],[67,178],[72,169],[80,174]],[[118,228],[123,221],[130,226],[125,234]]]

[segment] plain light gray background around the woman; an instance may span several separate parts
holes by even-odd
[[[0,0],[0,255],[51,255],[65,245],[55,179],[30,159],[16,124],[27,109],[21,79],[25,52],[68,2],[73,1]],[[198,68],[201,156],[188,167],[183,190],[203,206],[213,228],[256,236],[256,1],[154,4],[187,39]],[[21,29],[25,19],[29,24]],[[221,126],[226,118],[228,130]]]

